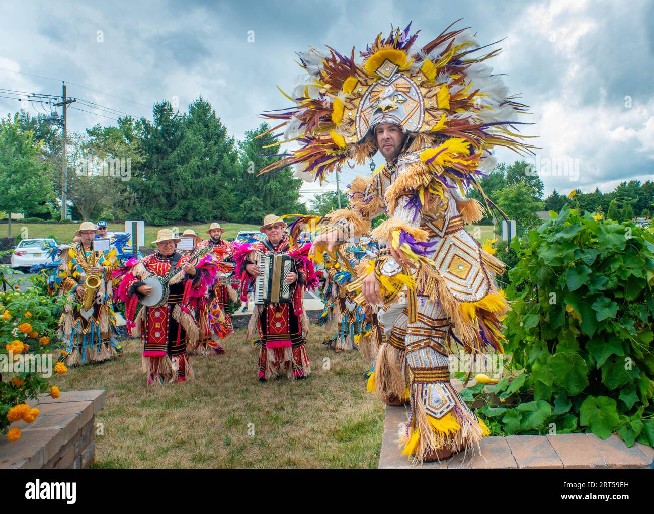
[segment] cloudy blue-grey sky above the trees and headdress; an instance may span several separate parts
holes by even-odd
[[[300,70],[294,52],[360,50],[391,24],[411,20],[420,45],[463,18],[457,27],[472,26],[484,45],[506,38],[488,63],[531,106],[534,125],[523,133],[538,136],[546,194],[611,191],[623,180],[654,178],[654,1],[88,4],[3,1],[0,113],[20,108],[2,98],[7,90],[61,94],[62,80],[80,99],[73,107],[90,111],[69,110],[70,130],[78,131],[114,124],[107,108],[151,118],[156,101],[177,100],[184,110],[201,94],[242,139],[260,123],[257,113],[286,107],[275,85],[291,89]],[[47,110],[47,103],[27,105],[32,113]],[[496,156],[515,160],[509,152]],[[346,170],[341,180],[353,175]],[[303,191],[309,198],[318,186]]]

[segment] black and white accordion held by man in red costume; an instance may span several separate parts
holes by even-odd
[[[295,261],[283,253],[262,255],[259,263],[261,274],[254,284],[254,304],[291,303],[294,284],[286,284],[289,272],[297,273]]]

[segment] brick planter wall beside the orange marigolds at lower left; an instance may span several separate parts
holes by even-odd
[[[30,402],[41,411],[36,421],[12,423],[22,436],[0,441],[0,468],[88,468],[95,455],[95,414],[105,398],[105,390],[39,396]]]

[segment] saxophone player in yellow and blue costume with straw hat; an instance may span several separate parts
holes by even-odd
[[[64,249],[56,285],[68,297],[60,318],[59,335],[65,344],[61,361],[67,366],[107,361],[122,354],[116,343],[116,314],[112,304],[111,275],[115,250],[95,251],[99,230],[84,221],[75,236],[79,242]]]

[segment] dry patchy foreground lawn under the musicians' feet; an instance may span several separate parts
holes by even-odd
[[[385,406],[366,393],[358,351],[336,354],[326,336],[311,326],[306,380],[258,382],[258,348],[243,329],[224,340],[225,355],[192,356],[196,377],[183,384],[146,386],[138,340],[118,360],[50,380],[107,390],[95,467],[377,468]]]

